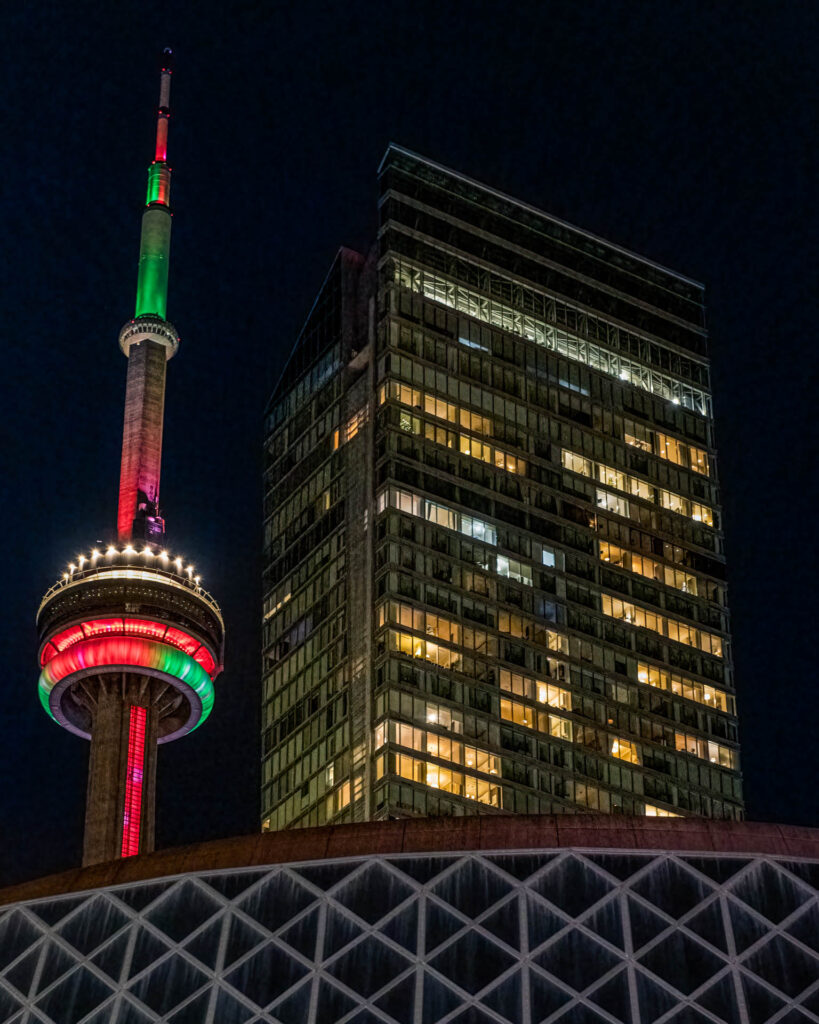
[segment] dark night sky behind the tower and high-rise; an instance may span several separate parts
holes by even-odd
[[[0,884],[79,861],[87,745],[37,701],[34,614],[115,525],[158,53],[176,51],[163,507],[227,668],[160,753],[158,844],[258,823],[265,398],[390,140],[707,285],[748,817],[819,825],[819,7],[6,5]]]

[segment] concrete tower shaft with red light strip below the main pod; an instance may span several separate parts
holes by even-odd
[[[86,689],[93,725],[83,865],[149,853],[155,842],[159,715],[153,681],[127,673],[97,679],[93,692]]]

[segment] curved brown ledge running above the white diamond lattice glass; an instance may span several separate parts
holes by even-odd
[[[712,821],[708,818],[627,818],[579,814],[405,818],[399,821],[325,825],[238,836],[91,867],[78,867],[0,889],[0,906],[188,871],[220,871],[231,867],[371,854],[569,847],[647,853],[766,854],[819,860],[819,828]]]

